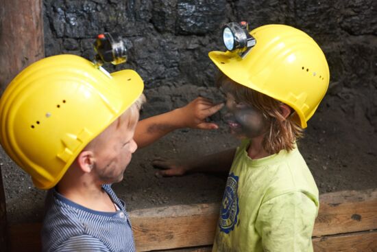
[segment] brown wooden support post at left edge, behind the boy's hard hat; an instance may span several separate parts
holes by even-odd
[[[42,0],[0,0],[0,95],[19,71],[45,56]],[[0,172],[0,248],[6,248],[6,208]]]

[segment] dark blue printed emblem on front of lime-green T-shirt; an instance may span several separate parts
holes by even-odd
[[[226,189],[221,203],[221,211],[219,218],[220,231],[229,233],[237,224],[239,215],[239,197],[237,196],[237,188],[239,177],[231,173],[226,181]]]

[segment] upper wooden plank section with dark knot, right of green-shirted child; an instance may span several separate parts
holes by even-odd
[[[313,236],[377,229],[377,190],[342,191],[319,197]]]

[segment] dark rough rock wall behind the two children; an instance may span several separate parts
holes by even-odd
[[[223,50],[224,23],[293,25],[313,36],[328,58],[325,100],[336,103],[329,100],[327,106],[336,104],[345,115],[377,126],[377,1],[44,0],[44,8],[47,56],[91,59],[97,34],[122,34],[130,47],[127,65],[106,68],[130,67],[141,75],[156,105],[151,114],[195,97],[192,85],[212,87],[216,69],[208,51]],[[174,91],[178,87],[182,94]]]

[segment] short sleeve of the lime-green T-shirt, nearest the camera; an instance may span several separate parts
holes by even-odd
[[[311,236],[317,207],[302,192],[290,192],[263,203],[256,230],[264,251],[313,251]]]

